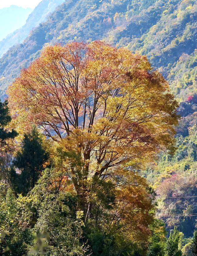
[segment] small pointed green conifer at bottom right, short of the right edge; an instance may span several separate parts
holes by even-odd
[[[181,256],[182,252],[178,248],[180,234],[177,227],[170,233],[170,236],[165,244],[165,256]]]

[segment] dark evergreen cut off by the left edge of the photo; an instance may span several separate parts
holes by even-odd
[[[6,139],[13,139],[17,136],[17,132],[12,129],[12,131],[7,131],[5,126],[11,122],[11,116],[9,115],[8,101],[0,101],[0,143],[5,144]]]

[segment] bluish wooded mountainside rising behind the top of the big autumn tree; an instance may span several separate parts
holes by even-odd
[[[181,101],[180,94],[185,93],[185,88],[174,84],[176,79],[171,72],[177,70],[184,53],[191,55],[190,58],[195,54],[196,36],[197,4],[194,0],[68,0],[36,27],[23,44],[14,46],[2,57],[2,95],[20,74],[20,69],[39,56],[45,43],[104,39],[118,47],[126,46],[146,54],[151,64],[172,84],[172,91]],[[180,76],[177,72],[174,76]],[[185,84],[191,83],[188,79]],[[187,88],[184,100],[189,93]]]

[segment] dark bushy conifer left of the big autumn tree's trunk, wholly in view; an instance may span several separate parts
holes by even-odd
[[[36,128],[24,135],[22,145],[21,152],[17,153],[14,160],[14,167],[19,169],[20,174],[13,169],[11,183],[16,193],[27,194],[35,186],[49,155],[43,148],[41,136]]]

